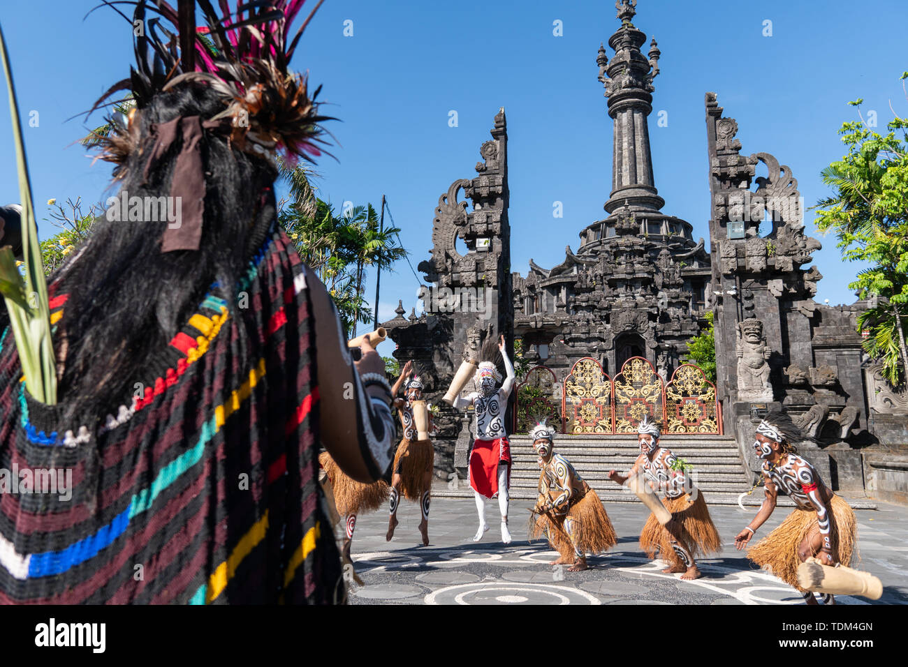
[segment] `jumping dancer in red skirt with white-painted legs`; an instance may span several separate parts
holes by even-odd
[[[479,529],[473,535],[473,542],[479,542],[482,535],[489,530],[486,523],[485,498],[498,495],[498,509],[501,511],[501,541],[510,544],[508,531],[508,488],[510,486],[510,444],[505,430],[505,411],[508,409],[508,396],[514,387],[514,366],[505,352],[505,337],[502,336],[498,347],[494,338],[487,338],[482,344],[479,368],[473,378],[479,391],[467,397],[458,397],[454,407],[464,410],[473,406],[476,439],[469,453],[469,486],[473,489],[476,500],[476,511],[479,515]],[[498,360],[504,363],[506,376],[501,387],[496,389],[501,380],[498,372]]]

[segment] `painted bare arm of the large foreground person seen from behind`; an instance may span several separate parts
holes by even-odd
[[[391,397],[381,384],[363,387],[360,375],[384,378],[384,362],[367,341],[354,365],[333,301],[308,267],[304,275],[315,319],[321,443],[352,479],[374,482],[387,476],[394,460]]]

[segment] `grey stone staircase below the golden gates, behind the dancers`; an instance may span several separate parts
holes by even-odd
[[[537,456],[529,436],[510,436],[511,467],[510,496],[519,500],[535,500],[539,469]],[[694,482],[710,505],[737,505],[738,495],[750,489],[752,482],[745,475],[735,438],[731,436],[665,436],[659,444],[694,466]],[[627,488],[608,479],[608,471],[627,474],[640,453],[636,436],[568,436],[555,437],[555,451],[566,456],[587,484],[596,490],[606,503],[637,503],[637,497]],[[436,497],[467,497],[472,495],[469,483],[460,480],[453,484],[438,483],[432,487]],[[746,505],[759,505],[763,492],[745,496]],[[785,505],[780,499],[779,505]]]

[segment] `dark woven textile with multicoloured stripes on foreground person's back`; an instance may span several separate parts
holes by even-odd
[[[65,295],[51,307],[65,321]],[[60,423],[25,391],[5,335],[0,603],[341,602],[312,324],[301,262],[272,229],[109,414]],[[69,471],[72,497],[26,492],[24,470]]]

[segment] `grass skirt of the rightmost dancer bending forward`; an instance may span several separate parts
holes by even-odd
[[[854,510],[838,495],[832,500],[832,542],[839,563],[851,565],[857,541],[857,520]],[[817,527],[814,510],[795,509],[775,530],[754,544],[747,557],[790,586],[804,593],[797,581],[797,566],[801,564],[797,550],[804,536]]]

